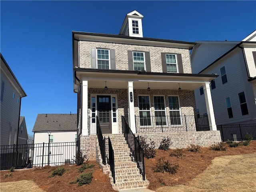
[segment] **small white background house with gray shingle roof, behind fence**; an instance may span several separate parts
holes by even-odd
[[[33,166],[72,162],[76,155],[76,114],[38,114],[32,132]]]

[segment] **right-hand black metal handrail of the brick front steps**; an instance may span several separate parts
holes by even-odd
[[[136,137],[132,130],[129,127],[129,124],[126,122],[124,116],[122,116],[122,132],[126,139],[126,142],[132,152],[132,160],[137,163],[137,167],[140,170],[140,174],[142,174],[143,180],[145,180],[145,167],[144,167],[144,154],[143,149],[140,146],[140,142],[138,137]]]

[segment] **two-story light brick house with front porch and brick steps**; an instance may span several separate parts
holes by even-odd
[[[100,164],[105,157],[98,153],[99,126],[111,139],[115,166],[131,161],[130,149],[123,144],[124,120],[133,134],[154,140],[156,146],[164,136],[171,137],[174,148],[220,141],[210,94],[210,81],[217,75],[192,74],[189,52],[195,43],[144,37],[143,17],[136,10],[128,13],[118,35],[72,32],[80,148]],[[196,132],[194,89],[201,86],[209,114],[206,132]],[[105,172],[106,166],[102,167]],[[113,188],[131,187],[126,180],[123,184],[111,180]],[[147,186],[145,182],[141,186]]]

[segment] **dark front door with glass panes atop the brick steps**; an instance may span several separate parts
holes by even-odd
[[[111,128],[111,96],[97,96],[97,111],[102,134],[112,133]]]

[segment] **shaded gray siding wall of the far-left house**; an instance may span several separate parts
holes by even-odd
[[[20,103],[17,102],[17,98],[20,100],[20,95],[12,86],[5,74],[1,70],[1,85],[4,80],[4,99],[1,105],[1,145],[8,145],[10,124],[12,126],[11,144],[14,144],[14,131],[18,128],[19,116],[20,116]],[[12,98],[14,92],[15,97]],[[21,102],[21,100],[19,101]]]

